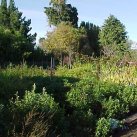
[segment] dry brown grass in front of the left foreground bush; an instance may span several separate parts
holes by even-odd
[[[49,130],[50,125],[49,121],[52,119],[53,115],[48,115],[48,118],[45,118],[44,113],[38,113],[34,110],[30,111],[24,117],[22,122],[22,131],[19,133],[16,131],[16,125],[12,130],[11,137],[50,137]]]

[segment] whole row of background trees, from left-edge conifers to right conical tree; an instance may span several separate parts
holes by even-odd
[[[76,7],[65,0],[51,0],[45,7],[48,22],[54,26],[46,38],[39,40],[36,46],[36,33],[31,34],[31,20],[22,16],[14,0],[1,0],[0,5],[0,63],[40,61],[47,55],[59,58],[80,53],[99,57],[111,55],[115,51],[124,53],[129,49],[125,26],[114,15],[105,20],[99,27],[82,21],[78,25]]]

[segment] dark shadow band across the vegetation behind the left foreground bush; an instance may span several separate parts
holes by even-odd
[[[79,79],[73,77],[58,77],[58,76],[4,76],[0,75],[0,100],[2,103],[7,103],[9,99],[15,96],[18,92],[22,97],[26,90],[31,90],[33,84],[36,84],[36,92],[42,92],[45,87],[46,92],[54,97],[55,101],[60,105],[65,101],[65,95],[70,90],[70,87],[65,83],[74,84]],[[0,103],[1,103],[0,102]]]

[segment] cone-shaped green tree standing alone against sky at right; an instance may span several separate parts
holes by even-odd
[[[124,52],[128,49],[127,32],[125,26],[114,15],[110,15],[105,20],[104,25],[99,33],[99,42],[103,48],[112,47],[117,51]]]

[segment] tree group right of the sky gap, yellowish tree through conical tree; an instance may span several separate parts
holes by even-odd
[[[126,28],[114,15],[110,15],[102,27],[85,21],[78,25],[77,8],[66,0],[51,0],[49,5],[45,7],[45,13],[55,29],[43,39],[44,50],[50,50],[54,55],[55,51],[77,52],[93,57],[123,55],[129,51]]]

